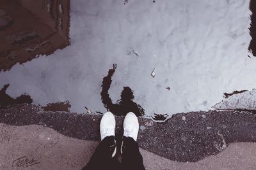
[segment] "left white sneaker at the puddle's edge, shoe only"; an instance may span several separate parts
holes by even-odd
[[[107,136],[115,136],[116,120],[114,115],[107,111],[100,120],[100,138],[103,140]]]

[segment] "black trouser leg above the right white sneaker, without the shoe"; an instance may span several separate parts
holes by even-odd
[[[123,138],[122,147],[122,169],[127,170],[142,170],[145,169],[143,165],[143,158],[140,154],[139,145],[134,139]]]

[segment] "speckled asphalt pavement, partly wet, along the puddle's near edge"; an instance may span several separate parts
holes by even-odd
[[[0,169],[81,169],[99,143],[101,117],[44,111],[31,104],[2,108]],[[116,139],[120,142],[124,117],[115,118]],[[138,143],[147,169],[256,167],[253,113],[179,113],[163,123],[138,119]]]

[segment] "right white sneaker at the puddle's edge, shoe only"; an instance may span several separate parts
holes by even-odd
[[[124,118],[124,136],[131,137],[134,141],[137,141],[139,132],[138,118],[134,113],[129,112]]]

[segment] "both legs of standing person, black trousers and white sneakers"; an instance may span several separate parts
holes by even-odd
[[[129,112],[124,118],[124,136],[121,146],[122,162],[118,162],[115,144],[115,117],[108,111],[100,120],[100,144],[97,146],[88,164],[83,170],[98,169],[145,169],[143,158],[136,142],[139,122],[134,113]]]

